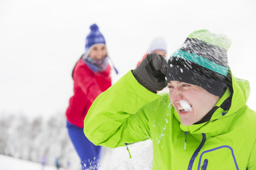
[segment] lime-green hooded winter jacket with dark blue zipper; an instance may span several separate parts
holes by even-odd
[[[249,82],[232,75],[232,84],[210,121],[184,126],[168,93],[148,91],[129,71],[94,101],[84,133],[95,145],[110,148],[151,139],[152,169],[255,170],[256,113],[246,105]],[[230,108],[222,109],[229,96]]]

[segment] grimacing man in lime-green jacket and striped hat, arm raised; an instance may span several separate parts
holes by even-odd
[[[102,93],[84,133],[110,148],[151,139],[152,169],[256,169],[250,87],[228,67],[231,41],[192,32],[167,61],[156,53]],[[168,93],[156,94],[165,86]]]

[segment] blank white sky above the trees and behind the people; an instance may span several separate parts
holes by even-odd
[[[232,40],[229,65],[250,81],[248,105],[256,110],[255,8],[254,0],[1,0],[0,114],[64,114],[93,23],[119,70],[113,82],[134,69],[155,37],[166,39],[169,56],[192,31],[224,33]]]

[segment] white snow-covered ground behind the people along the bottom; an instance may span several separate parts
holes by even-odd
[[[129,154],[126,147],[118,148],[103,148],[102,160],[98,170],[126,170],[126,169],[141,169],[150,170],[152,168],[152,142],[150,140],[135,143],[128,146],[132,159],[129,158]],[[41,170],[42,165],[40,163],[30,162],[18,158],[13,158],[6,155],[0,155],[0,169],[1,170]],[[53,170],[56,167],[46,166],[43,170]],[[72,168],[69,170],[79,170]],[[59,170],[65,170],[60,168]]]

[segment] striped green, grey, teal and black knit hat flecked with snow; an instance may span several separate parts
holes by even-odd
[[[231,41],[207,29],[192,32],[168,60],[167,82],[177,80],[196,86],[216,96],[226,90],[227,51]]]

